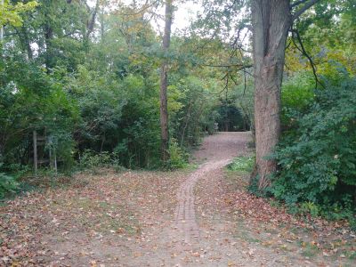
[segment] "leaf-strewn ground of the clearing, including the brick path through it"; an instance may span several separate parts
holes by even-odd
[[[101,169],[0,207],[0,266],[355,266],[345,223],[296,219],[225,166],[248,133],[205,139],[197,168]]]

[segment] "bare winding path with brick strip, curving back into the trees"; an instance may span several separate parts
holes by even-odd
[[[182,178],[177,190],[172,190],[174,198],[174,213],[155,214],[155,220],[162,222],[159,227],[146,228],[142,233],[142,239],[137,242],[139,247],[131,247],[133,251],[139,251],[137,257],[128,257],[122,261],[123,266],[195,266],[223,264],[230,266],[229,257],[221,246],[215,242],[219,239],[209,235],[206,242],[204,224],[196,217],[197,199],[195,187],[201,179],[220,177],[223,174],[223,166],[231,162],[231,159],[247,153],[247,142],[250,141],[248,133],[220,133],[206,137],[201,148],[194,154],[194,162],[198,169]],[[214,179],[213,179],[214,180]],[[216,188],[214,189],[216,190]],[[175,193],[176,192],[176,193]],[[166,199],[162,199],[166,201]],[[210,200],[208,201],[210,202]],[[203,226],[203,228],[201,228]],[[213,229],[209,227],[209,229]],[[225,233],[224,233],[225,234]],[[223,238],[221,238],[223,240]],[[211,249],[217,247],[217,249]],[[235,247],[231,247],[229,255],[233,255]],[[217,264],[217,265],[216,265]]]

